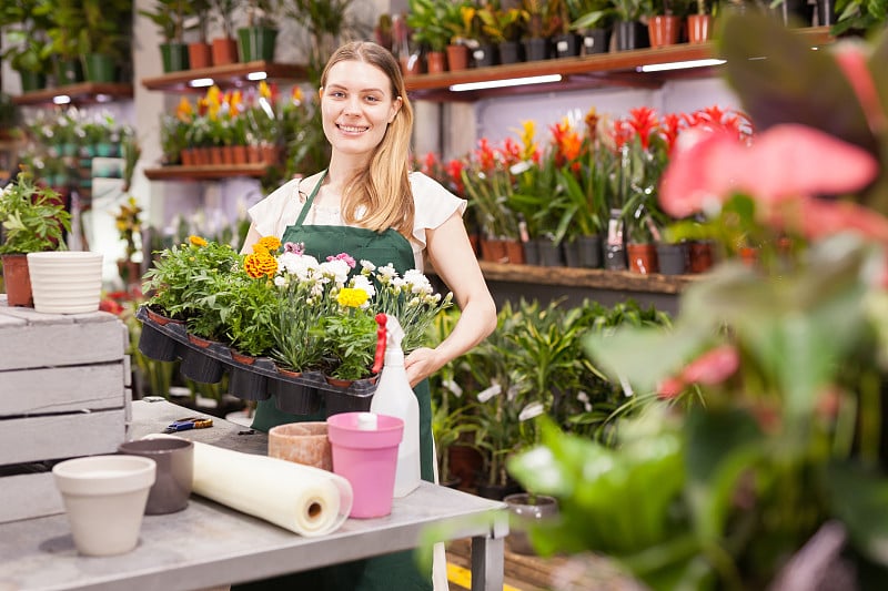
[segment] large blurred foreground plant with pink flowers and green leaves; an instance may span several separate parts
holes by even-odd
[[[755,236],[758,263],[720,263],[687,287],[667,329],[589,336],[597,367],[659,396],[614,426],[615,447],[548,426],[547,479],[534,458],[511,468],[564,501],[542,546],[608,552],[652,587],[672,573],[675,588],[784,588],[788,561],[828,529],[851,571],[884,572],[881,63],[847,41],[810,51],[761,16],[728,18],[723,35],[728,80],[758,131],[692,128],[659,200],[697,217],[670,227],[677,236],[725,248]],[[765,69],[746,59],[750,38]],[[888,35],[877,43],[884,54]]]

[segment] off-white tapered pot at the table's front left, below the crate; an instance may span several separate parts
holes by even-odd
[[[135,548],[157,465],[141,456],[74,458],[52,468],[74,546],[81,554],[122,554]]]

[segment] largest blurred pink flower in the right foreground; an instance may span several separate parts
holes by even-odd
[[[865,150],[805,125],[775,125],[749,147],[724,132],[690,130],[664,174],[660,205],[685,217],[746,193],[767,211],[786,200],[861,188],[877,172]]]

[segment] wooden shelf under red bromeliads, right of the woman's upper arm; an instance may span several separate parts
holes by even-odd
[[[529,283],[564,287],[589,287],[615,292],[679,294],[704,275],[643,275],[629,271],[603,268],[538,267],[481,261],[481,271],[490,282]]]

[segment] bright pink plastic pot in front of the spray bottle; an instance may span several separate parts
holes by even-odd
[[[391,513],[404,421],[373,412],[342,412],[326,422],[333,472],[349,480],[354,493],[349,517]]]

